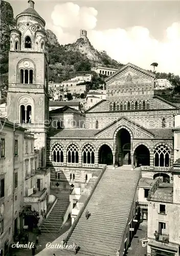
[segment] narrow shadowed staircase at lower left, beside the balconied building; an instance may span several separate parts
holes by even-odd
[[[49,217],[41,224],[42,233],[58,233],[62,226],[63,216],[69,204],[69,194],[64,193],[57,198],[57,202],[51,211]]]

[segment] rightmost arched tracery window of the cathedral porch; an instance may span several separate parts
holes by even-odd
[[[156,147],[154,151],[154,166],[169,167],[170,156],[170,151],[166,146],[160,145]]]

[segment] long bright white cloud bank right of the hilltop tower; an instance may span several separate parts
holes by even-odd
[[[152,69],[151,63],[158,62],[157,71],[180,74],[179,31],[180,25],[172,24],[162,42],[152,38],[144,27],[92,30],[88,38],[97,50],[105,50],[121,63],[131,62],[144,69]]]

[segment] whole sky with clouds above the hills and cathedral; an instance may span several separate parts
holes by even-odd
[[[35,1],[35,0],[34,0]],[[28,1],[8,0],[14,16]],[[178,1],[35,1],[61,45],[79,37],[80,29],[95,49],[119,62],[180,75],[180,0]]]

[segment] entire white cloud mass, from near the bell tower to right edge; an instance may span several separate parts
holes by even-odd
[[[121,63],[131,62],[144,69],[152,69],[158,62],[160,72],[180,74],[180,25],[173,23],[166,30],[163,41],[152,38],[147,28],[135,26],[128,29],[96,30],[98,11],[92,7],[79,7],[74,3],[54,7],[52,19],[60,44],[70,44],[78,38],[77,29],[86,29],[87,36],[97,50]],[[72,32],[73,29],[73,32]],[[68,31],[68,32],[67,32]],[[75,34],[74,34],[75,33]]]

